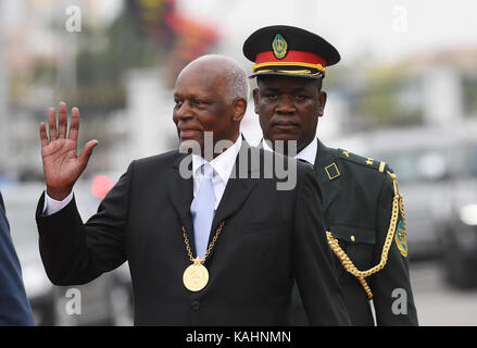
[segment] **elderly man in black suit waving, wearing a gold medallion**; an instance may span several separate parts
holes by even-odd
[[[312,324],[349,324],[313,170],[281,158],[294,169],[289,189],[265,175],[264,151],[239,130],[247,95],[235,61],[191,62],[174,89],[183,150],[133,161],[85,224],[72,190],[98,141],[78,157],[79,111],[66,136],[65,104],[58,132],[50,109],[50,139],[40,125],[47,192],[37,210],[50,279],[87,283],[127,260],[137,325],[286,325],[297,279]]]

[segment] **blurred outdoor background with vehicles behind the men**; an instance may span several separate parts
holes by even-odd
[[[35,209],[48,108],[78,107],[79,146],[99,140],[75,188],[86,220],[133,159],[177,147],[172,89],[189,61],[228,54],[251,72],[244,39],[288,24],[342,57],[324,80],[319,138],[398,174],[420,324],[477,325],[475,13],[466,0],[2,0],[0,189],[36,324],[133,323],[127,264],[77,287],[80,315],[45,274]],[[260,141],[252,99],[242,130]]]

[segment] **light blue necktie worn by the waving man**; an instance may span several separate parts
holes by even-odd
[[[193,198],[192,204],[190,204],[190,213],[193,220],[196,253],[197,257],[203,259],[208,249],[212,221],[214,220],[215,194],[212,184],[213,167],[205,163],[202,164],[200,170],[204,176],[200,182],[199,191]]]

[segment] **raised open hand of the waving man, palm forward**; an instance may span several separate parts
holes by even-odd
[[[78,156],[79,110],[77,108],[72,109],[72,121],[67,138],[67,113],[64,102],[60,102],[57,129],[55,110],[50,108],[48,111],[50,139],[48,139],[45,122],[40,124],[41,159],[48,196],[55,200],[63,200],[73,190],[73,186],[86,169],[98,140],[88,141]]]

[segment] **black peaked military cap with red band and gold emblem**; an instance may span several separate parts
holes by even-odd
[[[243,44],[253,74],[325,77],[325,67],[339,62],[340,54],[321,36],[302,28],[274,25],[258,29]]]

